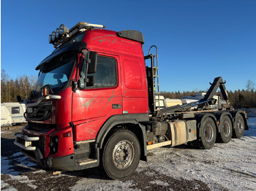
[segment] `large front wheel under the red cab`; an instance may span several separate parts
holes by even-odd
[[[134,173],[140,161],[140,142],[129,130],[118,130],[105,144],[102,167],[110,179],[124,179]]]

